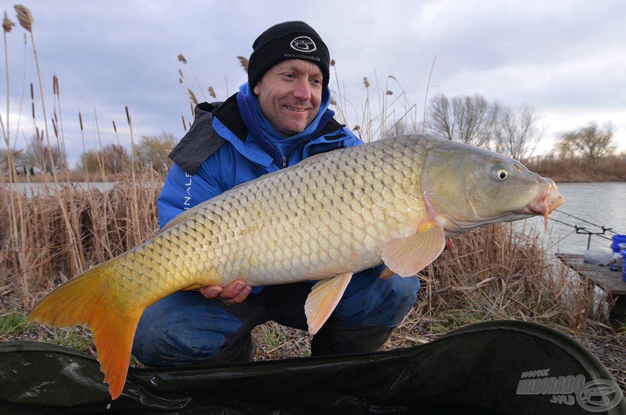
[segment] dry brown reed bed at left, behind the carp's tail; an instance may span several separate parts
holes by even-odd
[[[0,184],[0,294],[11,290],[28,309],[71,276],[150,238],[161,187],[150,174],[116,181],[108,192],[33,183],[25,193]]]

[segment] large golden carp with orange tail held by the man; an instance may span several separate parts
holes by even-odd
[[[416,275],[446,239],[478,226],[548,214],[555,182],[515,159],[428,134],[398,135],[302,160],[180,213],[160,233],[66,281],[29,322],[88,325],[112,399],[125,384],[136,326],[170,293],[242,278],[249,285],[319,280],[309,331],[331,315],[352,275]]]

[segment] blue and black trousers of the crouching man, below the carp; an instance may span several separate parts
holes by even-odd
[[[382,280],[382,268],[352,276],[331,318],[314,337],[312,354],[374,351],[384,344],[416,302],[419,280],[398,275]],[[251,360],[255,326],[274,320],[307,330],[304,302],[311,288],[309,282],[265,286],[228,306],[198,291],[172,293],[146,308],[132,353],[153,367]]]

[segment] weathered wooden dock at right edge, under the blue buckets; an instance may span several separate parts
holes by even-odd
[[[582,255],[557,253],[557,258],[576,271],[578,275],[587,277],[615,298],[615,305],[609,311],[611,320],[626,320],[626,281],[622,280],[621,271],[611,271],[608,265],[593,265],[583,260]]]

